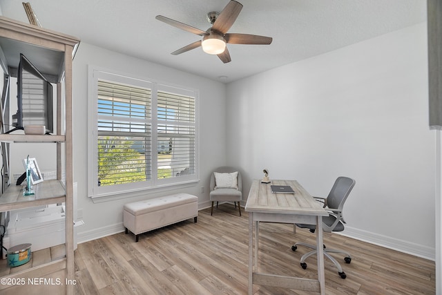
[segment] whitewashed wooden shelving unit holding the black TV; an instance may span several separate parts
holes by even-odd
[[[45,75],[50,82],[57,84],[57,130],[54,135],[24,135],[24,134],[3,134],[1,129],[0,142],[3,153],[8,153],[9,146],[16,142],[28,142],[36,144],[39,142],[53,143],[57,145],[57,180],[45,180],[33,187],[35,195],[23,196],[23,187],[11,184],[4,187],[4,193],[0,196],[0,212],[13,209],[23,209],[46,204],[65,203],[65,225],[66,243],[61,247],[51,247],[32,253],[30,263],[20,267],[10,268],[5,261],[0,263],[0,278],[40,278],[47,276],[63,276],[64,279],[74,280],[74,238],[73,238],[73,117],[72,117],[72,61],[79,39],[46,30],[27,23],[21,23],[6,17],[0,17],[0,66],[6,75],[14,77],[17,73],[20,53],[23,53],[32,64]],[[64,88],[62,95],[61,88]],[[2,102],[6,99],[3,93]],[[0,104],[0,111],[3,113],[3,104]],[[5,118],[1,118],[5,124]],[[32,148],[35,149],[36,145]],[[38,148],[38,144],[37,144]],[[5,151],[6,150],[6,151]],[[9,159],[7,154],[3,158],[3,178],[9,177],[9,161],[21,161],[21,159]],[[62,179],[64,178],[64,179]],[[5,184],[3,183],[3,186]],[[44,237],[42,237],[44,238]],[[54,248],[54,249],[53,249]],[[61,249],[62,248],[62,249]],[[61,249],[61,250],[60,250]],[[32,250],[32,247],[31,247]],[[57,253],[49,259],[35,259],[41,253]],[[60,254],[61,253],[61,254]],[[3,294],[24,294],[28,289],[34,289],[35,285],[0,285],[0,293]],[[66,294],[73,294],[73,285],[65,284],[63,280],[61,289]],[[48,292],[54,289],[53,286],[46,288]],[[43,288],[42,290],[46,290]],[[24,292],[24,293],[23,293]],[[32,293],[32,292],[29,292]]]

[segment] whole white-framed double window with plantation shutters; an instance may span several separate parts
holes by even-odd
[[[89,196],[197,180],[196,91],[90,70]]]

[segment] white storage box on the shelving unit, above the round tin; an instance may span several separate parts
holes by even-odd
[[[6,249],[15,245],[32,244],[32,251],[64,244],[64,206],[34,207],[10,211],[3,237]]]

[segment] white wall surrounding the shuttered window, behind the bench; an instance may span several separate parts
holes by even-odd
[[[164,196],[148,193],[146,196],[113,200],[94,204],[87,196],[87,113],[88,64],[133,77],[145,77],[159,82],[182,85],[200,91],[200,183],[180,189],[199,198],[200,207],[209,204],[209,175],[215,166],[226,164],[225,135],[225,85],[212,80],[167,68],[149,61],[135,59],[104,48],[81,43],[73,62],[74,106],[74,182],[78,183],[78,209],[82,211],[85,225],[78,228],[79,242],[121,231],[123,205],[144,198]],[[215,156],[214,156],[215,155]],[[204,187],[204,193],[201,193]]]

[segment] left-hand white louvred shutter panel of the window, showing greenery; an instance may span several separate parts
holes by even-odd
[[[151,179],[151,89],[98,80],[98,185]]]

